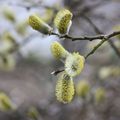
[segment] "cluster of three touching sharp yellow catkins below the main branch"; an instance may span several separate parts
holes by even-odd
[[[64,72],[58,76],[56,97],[62,103],[69,103],[74,96],[73,77],[79,75],[84,67],[84,57],[68,52],[60,43],[53,42],[51,52],[56,59],[64,63]]]

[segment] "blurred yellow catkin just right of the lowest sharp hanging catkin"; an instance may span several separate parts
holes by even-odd
[[[76,93],[80,97],[86,97],[89,93],[90,85],[86,80],[80,80],[76,85]]]

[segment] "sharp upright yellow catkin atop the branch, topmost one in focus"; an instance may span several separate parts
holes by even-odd
[[[66,34],[69,32],[69,28],[72,24],[72,16],[72,13],[67,9],[60,10],[57,13],[54,19],[54,24],[60,34]]]

